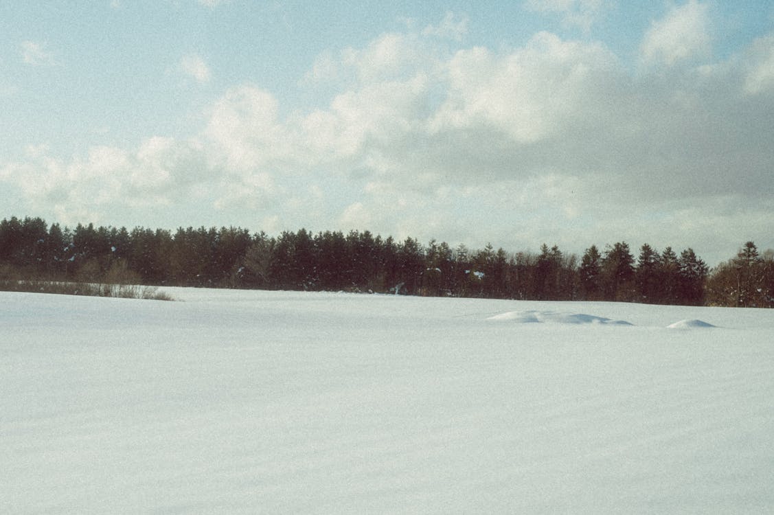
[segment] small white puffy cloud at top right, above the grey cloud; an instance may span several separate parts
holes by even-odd
[[[710,51],[707,5],[690,0],[652,22],[640,51],[647,64],[674,64]]]

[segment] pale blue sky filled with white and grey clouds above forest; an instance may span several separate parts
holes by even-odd
[[[0,5],[0,218],[774,248],[774,4]]]

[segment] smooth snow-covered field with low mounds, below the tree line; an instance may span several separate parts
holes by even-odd
[[[0,513],[774,513],[774,311],[165,291],[0,292]]]

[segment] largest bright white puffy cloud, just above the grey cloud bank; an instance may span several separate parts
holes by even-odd
[[[552,136],[615,86],[615,57],[604,47],[539,33],[522,49],[495,55],[461,50],[449,63],[449,96],[433,127],[481,123],[516,142]]]

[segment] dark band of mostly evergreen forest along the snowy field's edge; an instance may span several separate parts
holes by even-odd
[[[46,291],[50,283],[774,307],[774,252],[745,242],[710,270],[693,249],[644,244],[635,256],[626,242],[591,245],[578,258],[557,245],[451,248],[368,231],[269,236],[239,227],[130,231],[0,221],[0,289]]]

